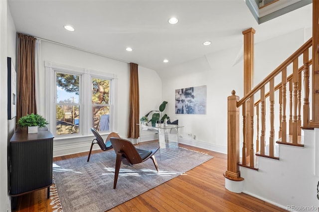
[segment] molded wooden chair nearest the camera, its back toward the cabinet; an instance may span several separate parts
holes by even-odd
[[[126,139],[112,137],[110,141],[116,153],[113,189],[116,188],[120,172],[121,161],[125,165],[133,166],[133,164],[142,163],[147,159],[151,158],[153,160],[156,170],[159,172],[158,162],[156,161],[154,154],[160,149],[160,147],[149,151],[135,148],[135,146]]]

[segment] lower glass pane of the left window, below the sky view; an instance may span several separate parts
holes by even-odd
[[[56,134],[78,134],[80,120],[79,106],[56,106]]]

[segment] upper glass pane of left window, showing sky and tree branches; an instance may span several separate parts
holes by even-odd
[[[56,73],[56,102],[79,104],[80,76]]]

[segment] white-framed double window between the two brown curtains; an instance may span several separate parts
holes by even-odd
[[[91,127],[102,133],[115,130],[113,74],[49,62],[45,62],[45,68],[48,73],[46,117],[55,138],[92,135]]]

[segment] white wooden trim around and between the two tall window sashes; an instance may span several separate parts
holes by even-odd
[[[50,124],[50,123],[55,123],[55,109],[54,112],[50,112],[50,109],[55,108],[55,98],[56,98],[56,84],[55,84],[55,72],[60,71],[60,72],[67,72],[67,73],[74,73],[76,75],[81,76],[81,84],[82,88],[88,88],[91,85],[91,77],[100,77],[102,79],[110,79],[112,80],[111,82],[111,93],[110,93],[110,102],[111,104],[111,114],[110,114],[110,132],[117,132],[118,128],[118,122],[117,122],[117,108],[118,108],[118,102],[117,102],[117,89],[118,89],[118,79],[117,75],[115,74],[110,74],[110,73],[104,73],[104,72],[99,72],[99,71],[94,71],[90,69],[84,69],[84,68],[77,68],[77,67],[72,67],[72,66],[67,66],[67,65],[62,65],[62,64],[57,64],[57,63],[52,63],[50,61],[45,61],[44,62],[44,67],[45,67],[45,79],[46,79],[46,85],[45,86],[45,117],[47,118],[49,124],[48,124],[48,129],[55,134],[56,131],[56,126],[55,124]],[[84,77],[86,75],[86,77]],[[89,76],[88,76],[89,75]],[[80,88],[80,89],[82,89]],[[80,91],[80,99],[86,100],[88,96],[91,96],[91,91],[89,89],[84,89],[86,91],[81,90]],[[52,95],[55,94],[55,95]],[[83,99],[82,99],[83,98]],[[80,102],[81,103],[81,102]],[[78,135],[68,135],[68,136],[56,136],[54,138],[55,141],[69,141],[69,142],[74,142],[81,137],[85,141],[89,141],[89,143],[92,141],[91,138],[93,134],[90,131],[91,127],[91,121],[84,121],[84,120],[91,120],[91,113],[85,112],[88,111],[88,106],[91,107],[91,103],[89,104],[80,104],[81,111],[81,120],[80,120],[80,129],[79,131],[82,132],[81,134]],[[108,133],[104,133],[108,134]],[[103,135],[103,133],[102,133]],[[86,138],[87,137],[87,138]],[[82,140],[81,139],[81,140]],[[61,143],[63,145],[63,143]],[[65,143],[65,145],[68,145]],[[83,143],[82,143],[83,145]]]

